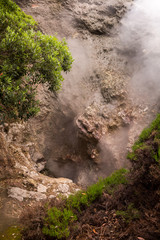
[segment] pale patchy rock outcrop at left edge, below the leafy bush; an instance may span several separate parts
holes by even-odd
[[[39,173],[27,147],[25,143],[22,148],[9,142],[7,134],[0,133],[0,214],[8,223],[18,218],[28,204],[48,201],[60,194],[68,196],[79,190],[70,179],[55,179]]]

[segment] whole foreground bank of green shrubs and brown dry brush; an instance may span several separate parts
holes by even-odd
[[[59,205],[43,208],[38,219],[30,214],[24,240],[160,239],[159,126],[160,115],[133,146],[129,172],[120,169]]]

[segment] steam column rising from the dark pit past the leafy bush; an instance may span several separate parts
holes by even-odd
[[[76,180],[84,167],[83,162],[79,162],[81,158],[86,159],[87,155],[86,142],[78,137],[76,119],[93,101],[95,93],[88,91],[88,85],[95,64],[92,44],[74,38],[67,39],[67,43],[74,62],[72,70],[64,75],[65,81],[58,93],[58,107],[53,116],[45,156],[48,159],[46,167],[51,175]]]

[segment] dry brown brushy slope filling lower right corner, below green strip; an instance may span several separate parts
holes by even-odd
[[[68,238],[60,239],[160,239],[159,124],[160,115],[152,125],[152,129],[143,132],[135,143],[129,155],[132,165],[127,177],[128,181],[119,185],[113,194],[105,191],[90,206],[82,205],[81,211],[75,209],[77,220],[70,225],[70,235]],[[56,237],[50,238],[39,231],[38,226],[43,226],[46,212],[41,208],[37,216],[35,209],[29,210],[29,213],[25,213],[22,218],[25,226],[28,226],[24,231],[24,239],[56,240]],[[52,224],[50,227],[54,232],[55,223]]]

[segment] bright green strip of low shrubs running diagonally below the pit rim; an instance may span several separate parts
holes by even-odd
[[[126,169],[117,170],[110,177],[100,179],[96,184],[89,186],[86,191],[70,195],[66,199],[65,208],[49,209],[44,220],[43,233],[57,239],[68,237],[69,225],[77,218],[73,212],[81,211],[82,208],[89,206],[102,195],[103,191],[113,193],[119,184],[126,184],[127,172]]]

